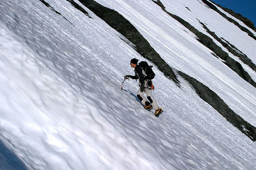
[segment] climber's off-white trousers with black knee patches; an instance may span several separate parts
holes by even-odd
[[[144,93],[146,92],[146,95],[147,95],[147,99],[144,97]],[[149,101],[151,103],[151,105],[153,106],[154,110],[158,109],[158,105],[157,105],[157,102],[156,100],[154,99],[154,97],[152,96],[152,89],[151,87],[148,87],[147,86],[147,82],[145,81],[144,83],[144,91],[141,92],[140,91],[140,88],[139,88],[139,91],[137,93],[137,97],[139,98],[139,100],[141,101],[142,104],[145,105],[145,102],[146,101]]]

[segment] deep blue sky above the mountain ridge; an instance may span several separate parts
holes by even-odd
[[[250,19],[256,27],[256,0],[212,0]]]

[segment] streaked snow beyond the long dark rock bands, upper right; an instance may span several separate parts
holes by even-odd
[[[127,1],[106,0],[98,0],[97,2],[116,10],[128,19],[171,67],[181,70],[207,85],[236,113],[241,114],[246,121],[252,123],[254,126],[256,125],[256,119],[253,118],[252,120],[252,117],[255,117],[255,88],[249,83],[244,82],[238,74],[234,73],[221,60],[213,57],[210,54],[212,51],[200,44],[194,38],[194,34],[190,33],[178,21],[163,12],[154,2],[137,2],[137,0],[128,1],[130,3]],[[216,30],[216,34],[219,37],[224,37],[224,39],[228,40],[238,49],[241,49],[242,52],[245,50],[244,53],[256,63],[256,41],[241,31],[237,26],[221,17],[218,13],[207,8],[201,1],[194,0],[174,3],[173,1],[163,0],[161,2],[165,5],[167,11],[180,16],[197,30],[210,36],[198,20],[207,24],[207,27],[211,31]],[[152,11],[154,11],[153,14]],[[145,18],[145,16],[148,17]],[[226,30],[226,33],[221,31],[222,34],[220,34],[218,33],[220,32],[219,30]],[[215,39],[213,40],[217,45],[222,47]],[[241,44],[241,41],[244,41],[243,45],[245,48],[241,45],[237,46]],[[224,47],[223,49],[228,52]],[[247,53],[247,49],[250,49],[250,53]],[[255,71],[243,64],[238,57],[233,56],[229,52],[228,54],[242,64],[244,69],[256,80]],[[234,91],[236,91],[236,94],[234,94]],[[232,95],[233,100],[230,100],[230,95]],[[248,104],[251,101],[253,101],[252,105]],[[241,104],[243,107],[239,108]],[[246,111],[247,109],[249,109],[249,112]]]

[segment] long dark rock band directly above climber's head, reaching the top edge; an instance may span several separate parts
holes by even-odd
[[[148,41],[140,34],[140,32],[118,12],[102,6],[94,0],[79,0],[89,10],[94,12],[98,17],[104,20],[110,27],[125,36],[131,43],[136,45],[135,50],[144,58],[154,63],[165,76],[173,80],[179,86],[172,68],[160,57]]]

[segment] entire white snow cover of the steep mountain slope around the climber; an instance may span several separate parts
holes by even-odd
[[[145,59],[88,8],[93,19],[66,0],[46,2],[74,26],[39,0],[0,0],[0,139],[27,169],[255,169],[255,142],[185,80],[178,77],[179,88],[153,67],[153,95],[164,111],[154,117],[136,97],[138,82],[120,90],[123,76],[134,74],[131,58]],[[172,68],[207,85],[256,126],[255,88],[154,2],[97,2],[128,19]],[[200,0],[161,2],[205,34],[198,20],[206,23],[256,63],[256,41]],[[256,81],[255,71],[240,63]]]

